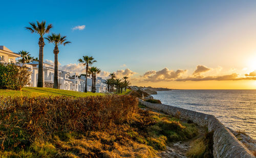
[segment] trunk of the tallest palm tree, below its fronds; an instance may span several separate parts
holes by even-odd
[[[37,87],[44,87],[44,38],[40,37],[38,41],[39,45],[39,61],[38,61],[38,78],[37,78]]]

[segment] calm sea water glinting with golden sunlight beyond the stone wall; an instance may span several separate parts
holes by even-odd
[[[152,95],[163,104],[204,112],[256,139],[256,90],[173,90]]]

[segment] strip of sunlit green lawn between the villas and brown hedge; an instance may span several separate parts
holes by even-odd
[[[53,89],[53,88],[37,88],[37,87],[24,87],[21,91],[18,90],[10,90],[10,89],[0,89],[0,96],[28,96],[28,97],[36,97],[36,96],[73,96],[73,97],[87,97],[87,96],[102,96],[103,93],[84,93],[84,92],[75,92],[75,91],[67,91],[61,89]]]

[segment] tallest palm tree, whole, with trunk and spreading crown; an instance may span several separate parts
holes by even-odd
[[[50,29],[52,28],[52,25],[49,24],[46,26],[46,21],[36,21],[35,22],[29,22],[30,27],[26,27],[27,30],[29,30],[31,33],[37,33],[39,34],[39,61],[38,61],[38,79],[37,79],[37,87],[44,87],[44,80],[43,80],[43,67],[42,64],[44,62],[44,35],[46,33],[50,32]]]

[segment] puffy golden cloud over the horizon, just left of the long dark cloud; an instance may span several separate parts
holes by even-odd
[[[163,70],[160,71],[147,71],[143,77],[144,81],[148,82],[159,82],[159,81],[172,81],[177,78],[180,78],[183,74],[185,74],[187,70],[168,70],[167,67],[165,67]]]

